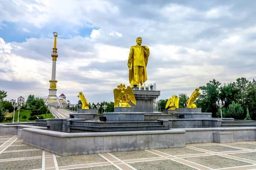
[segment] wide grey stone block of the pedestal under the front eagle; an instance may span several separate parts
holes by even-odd
[[[132,121],[144,121],[144,113],[124,113],[124,112],[112,112],[103,113],[107,118],[107,122],[132,122]]]

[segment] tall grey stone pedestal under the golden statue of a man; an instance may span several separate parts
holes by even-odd
[[[136,99],[136,105],[132,102],[129,104],[135,108],[135,112],[153,113],[154,112],[154,100],[160,96],[160,91],[148,91],[142,88],[133,88],[134,96]]]

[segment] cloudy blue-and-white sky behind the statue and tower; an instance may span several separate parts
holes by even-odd
[[[127,59],[142,37],[146,85],[161,99],[217,79],[256,78],[255,0],[0,0],[0,90],[7,99],[48,96],[52,32],[57,95],[113,101],[129,84]]]

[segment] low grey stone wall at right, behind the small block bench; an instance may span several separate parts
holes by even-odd
[[[213,133],[233,133],[234,141],[256,141],[256,127],[184,128],[185,143],[214,142]]]

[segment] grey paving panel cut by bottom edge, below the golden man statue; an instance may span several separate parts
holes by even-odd
[[[196,170],[172,160],[136,162],[129,165],[137,170]]]

